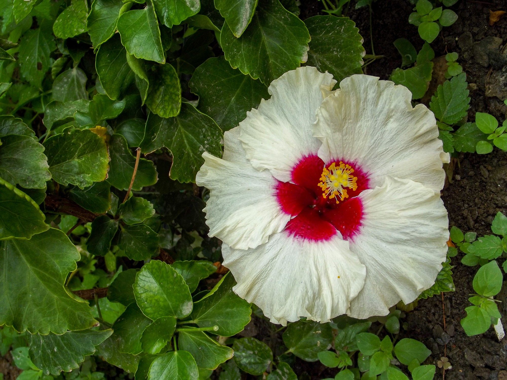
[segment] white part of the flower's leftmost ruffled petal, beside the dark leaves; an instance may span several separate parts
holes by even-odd
[[[230,150],[230,155],[235,155]],[[276,180],[267,171],[250,164],[230,162],[204,152],[204,164],[196,183],[209,189],[204,208],[210,237],[240,249],[266,243],[281,231],[290,216],[283,213],[275,198]]]

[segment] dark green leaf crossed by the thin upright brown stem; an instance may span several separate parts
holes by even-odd
[[[135,157],[130,153],[125,137],[119,134],[111,136],[109,153],[111,162],[107,181],[120,190],[127,190],[134,172]],[[144,186],[153,185],[157,179],[157,171],[153,162],[141,158],[132,190],[140,190]]]

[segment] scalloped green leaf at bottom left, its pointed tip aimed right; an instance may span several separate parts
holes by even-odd
[[[113,330],[67,331],[63,335],[30,335],[30,357],[45,374],[59,375],[79,368],[79,363],[95,353],[95,346],[107,339]]]

